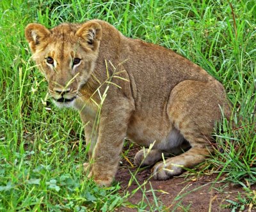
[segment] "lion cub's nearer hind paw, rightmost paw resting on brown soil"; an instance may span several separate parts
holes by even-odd
[[[159,162],[154,165],[152,174],[154,179],[157,180],[169,179],[172,176],[181,174],[184,171],[182,167],[183,165],[172,163],[172,161],[168,162],[168,160],[166,160],[166,162]]]

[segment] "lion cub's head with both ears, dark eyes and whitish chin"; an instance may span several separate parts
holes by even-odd
[[[72,105],[93,72],[101,26],[92,21],[83,25],[61,24],[49,30],[41,24],[29,24],[25,34],[54,102],[59,107]]]

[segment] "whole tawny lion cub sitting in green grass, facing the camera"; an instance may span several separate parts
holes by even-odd
[[[204,161],[214,123],[222,112],[230,116],[223,86],[205,70],[172,50],[126,38],[102,20],[53,29],[29,24],[26,39],[53,101],[79,111],[89,176],[99,185],[115,177],[125,137],[154,143],[136,154],[137,165],[169,157],[153,168],[155,179],[168,179]]]

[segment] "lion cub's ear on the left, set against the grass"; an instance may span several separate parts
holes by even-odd
[[[51,31],[42,24],[28,24],[25,29],[25,36],[33,53],[35,53],[36,47],[40,45],[49,34],[51,34]]]

